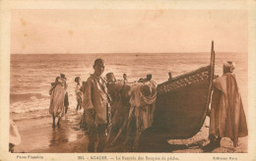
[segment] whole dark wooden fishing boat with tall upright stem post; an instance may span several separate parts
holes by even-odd
[[[152,127],[139,138],[139,151],[160,151],[166,139],[185,139],[202,128],[211,100],[215,70],[212,42],[210,65],[158,85]]]

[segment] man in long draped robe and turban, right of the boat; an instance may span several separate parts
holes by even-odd
[[[233,146],[238,145],[238,137],[248,135],[246,118],[239,93],[232,62],[224,62],[224,75],[214,80],[214,92],[210,116],[210,144],[205,151],[221,146],[222,137],[229,137]]]

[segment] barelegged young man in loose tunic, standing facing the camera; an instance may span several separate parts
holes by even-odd
[[[87,80],[82,107],[86,110],[86,121],[89,128],[88,151],[95,151],[98,137],[96,151],[102,152],[110,119],[110,97],[107,93],[106,81],[101,78],[104,72],[104,61],[96,59],[94,69],[95,73]]]

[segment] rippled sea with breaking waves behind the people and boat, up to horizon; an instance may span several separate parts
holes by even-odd
[[[69,113],[75,115],[74,79],[87,80],[94,73],[96,58],[105,61],[105,74],[117,80],[125,73],[128,81],[152,74],[157,83],[210,65],[210,52],[200,53],[119,53],[119,54],[11,54],[10,116],[14,121],[51,117],[49,89],[51,82],[65,74],[68,83]],[[235,63],[234,71],[245,109],[248,97],[247,53],[216,52],[215,74],[222,76],[223,62]],[[246,111],[246,110],[245,110]]]

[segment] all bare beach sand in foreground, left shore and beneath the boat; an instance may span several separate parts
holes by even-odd
[[[87,152],[88,135],[80,128],[82,111],[64,117],[61,126],[53,129],[50,117],[29,119],[16,122],[22,136],[22,143],[15,146],[14,152],[25,153],[81,153]],[[172,146],[173,153],[201,153],[202,147],[209,143],[209,119],[201,131],[189,139],[172,139],[168,143]],[[132,152],[131,146],[115,145],[106,147],[106,152]],[[221,147],[216,148],[216,153],[247,152],[247,136],[239,138],[237,147],[232,146],[229,138],[223,138]]]

